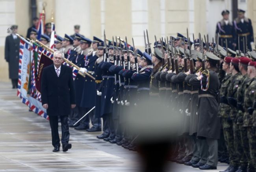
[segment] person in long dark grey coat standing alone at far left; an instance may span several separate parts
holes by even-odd
[[[18,88],[20,38],[15,35],[15,33],[17,33],[18,26],[13,25],[11,27],[13,29],[13,33],[6,37],[4,58],[9,64],[9,79],[11,79],[13,88]]]

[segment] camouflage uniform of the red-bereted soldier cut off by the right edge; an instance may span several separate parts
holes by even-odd
[[[256,169],[256,127],[252,125],[253,102],[256,99],[256,79],[250,79],[245,86],[244,100],[244,120],[243,126],[247,127],[247,137],[249,139],[250,157],[252,165]]]

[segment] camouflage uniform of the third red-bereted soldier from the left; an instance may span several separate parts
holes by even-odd
[[[252,167],[252,159],[250,158],[250,149],[249,149],[249,140],[247,137],[247,127],[243,126],[243,115],[244,115],[244,93],[245,93],[245,86],[246,83],[249,81],[249,77],[246,75],[243,76],[241,79],[241,83],[239,84],[237,88],[237,125],[239,126],[240,131],[240,137],[241,137],[241,144],[243,148],[243,152],[245,153],[245,156],[248,161],[249,168]]]

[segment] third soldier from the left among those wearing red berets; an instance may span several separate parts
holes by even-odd
[[[251,60],[247,57],[240,57],[239,58],[239,71],[243,75],[238,88],[237,88],[237,125],[239,126],[239,132],[241,136],[240,143],[242,144],[243,152],[245,153],[245,156],[247,158],[248,166],[247,167],[239,167],[239,170],[241,171],[254,171],[254,168],[252,166],[252,159],[250,157],[250,150],[249,150],[249,140],[247,137],[247,127],[243,126],[243,116],[244,116],[244,108],[243,108],[243,102],[244,102],[244,93],[245,93],[245,87],[246,83],[249,81],[249,77],[247,75],[247,68],[248,64]]]

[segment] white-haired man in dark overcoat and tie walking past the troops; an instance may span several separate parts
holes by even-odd
[[[59,151],[58,116],[61,119],[61,143],[62,151],[71,148],[69,143],[68,115],[70,108],[76,107],[76,96],[72,69],[61,65],[64,54],[60,51],[54,53],[53,63],[43,70],[41,81],[42,105],[49,116],[52,130],[53,152]]]

